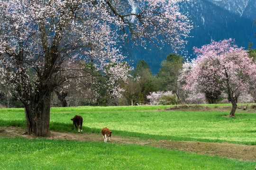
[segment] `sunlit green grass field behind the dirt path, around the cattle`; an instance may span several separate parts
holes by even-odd
[[[70,119],[78,114],[87,133],[100,134],[101,128],[109,127],[113,135],[144,139],[256,144],[255,112],[227,118],[229,112],[157,111],[158,107],[165,106],[52,108],[50,130],[71,132]],[[24,125],[23,109],[0,110],[0,126]]]

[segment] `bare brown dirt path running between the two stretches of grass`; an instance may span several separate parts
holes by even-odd
[[[17,127],[0,127],[0,137],[26,137],[36,138],[35,136],[22,135],[25,130]],[[78,140],[78,141],[95,141],[103,142],[101,134],[78,134],[78,133],[61,133],[51,131],[48,139],[60,140]],[[229,143],[207,143],[192,141],[170,141],[170,140],[143,140],[136,137],[120,137],[113,135],[111,143],[116,144],[139,144],[166,149],[182,150],[191,153],[205,154],[211,156],[227,157],[241,161],[256,161],[256,146],[245,144]]]

